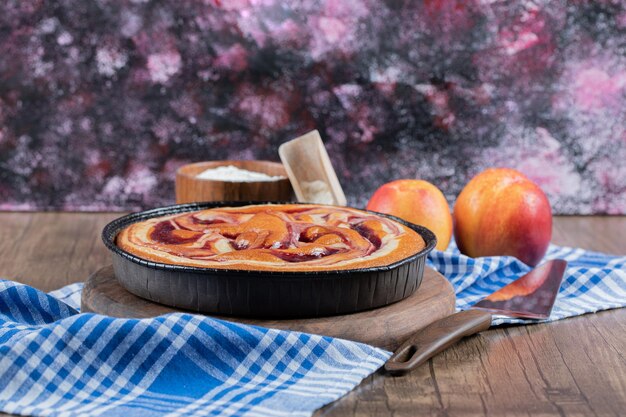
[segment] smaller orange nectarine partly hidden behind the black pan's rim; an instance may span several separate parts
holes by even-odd
[[[450,206],[443,193],[427,181],[407,179],[384,184],[374,192],[367,209],[430,229],[437,236],[439,250],[445,250],[452,238]]]

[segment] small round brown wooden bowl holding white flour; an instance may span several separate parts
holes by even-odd
[[[232,165],[248,171],[271,176],[283,176],[276,181],[233,182],[196,178],[210,168]],[[183,165],[176,171],[176,203],[199,201],[291,201],[293,189],[287,171],[279,162],[270,161],[209,161]]]

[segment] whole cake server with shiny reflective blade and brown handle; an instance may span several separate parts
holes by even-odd
[[[533,269],[483,298],[470,309],[437,320],[419,330],[389,358],[385,370],[403,375],[463,337],[491,326],[492,314],[547,319],[561,287],[567,262],[555,259]]]

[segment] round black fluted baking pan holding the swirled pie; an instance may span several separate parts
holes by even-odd
[[[413,294],[422,282],[435,235],[422,226],[389,217],[419,233],[426,247],[394,264],[350,270],[274,272],[197,268],[152,262],[120,249],[115,238],[126,226],[152,217],[258,202],[178,204],[120,217],[102,231],[115,275],[139,297],[185,310],[251,318],[304,318],[381,307]],[[293,203],[290,203],[293,204]],[[380,213],[376,213],[381,215]]]

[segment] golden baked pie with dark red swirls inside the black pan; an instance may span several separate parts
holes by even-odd
[[[383,267],[426,246],[394,220],[347,207],[262,204],[220,207],[133,223],[117,245],[169,265],[255,271]]]

